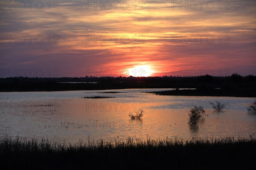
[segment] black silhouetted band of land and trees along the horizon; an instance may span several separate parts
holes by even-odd
[[[0,84],[0,91],[68,91],[125,88],[196,88],[198,90],[210,90],[221,88],[222,90],[235,92],[239,89],[255,91],[256,76],[232,74],[227,77],[213,77],[210,75],[198,77],[9,77],[0,78]]]

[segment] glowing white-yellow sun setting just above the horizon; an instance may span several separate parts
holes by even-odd
[[[132,77],[150,77],[155,71],[151,65],[134,65],[133,68],[128,69],[129,76]]]

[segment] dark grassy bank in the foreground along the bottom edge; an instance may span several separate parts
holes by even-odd
[[[253,170],[256,138],[113,139],[50,143],[43,139],[1,139],[3,169],[178,169]]]

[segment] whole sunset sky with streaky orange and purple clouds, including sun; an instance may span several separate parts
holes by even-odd
[[[0,4],[0,77],[256,75],[256,1]]]

